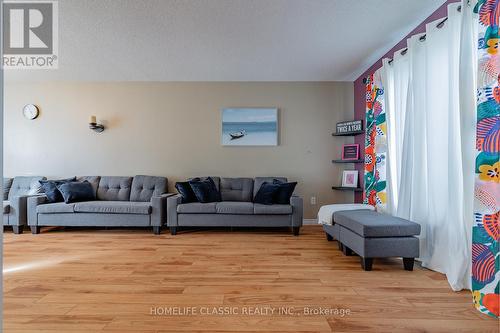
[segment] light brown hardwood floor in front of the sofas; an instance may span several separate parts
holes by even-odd
[[[219,309],[232,314],[206,313]],[[397,259],[361,270],[359,258],[345,257],[319,226],[302,228],[300,237],[283,230],[4,234],[4,332],[498,333],[498,324],[441,274],[405,271]]]

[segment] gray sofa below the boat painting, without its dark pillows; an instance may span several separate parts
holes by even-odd
[[[263,182],[283,177],[212,177],[222,202],[182,203],[180,195],[167,199],[167,225],[175,235],[179,227],[291,227],[298,236],[303,220],[303,201],[292,196],[289,205],[262,205],[252,200]]]

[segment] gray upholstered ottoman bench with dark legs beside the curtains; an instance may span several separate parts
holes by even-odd
[[[352,251],[361,257],[361,267],[369,271],[373,258],[402,257],[404,268],[413,270],[419,256],[420,225],[370,210],[339,211],[333,225],[325,226],[328,236],[339,241],[346,255]]]

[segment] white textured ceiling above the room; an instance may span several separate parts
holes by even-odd
[[[445,0],[59,0],[59,69],[7,80],[352,81]]]

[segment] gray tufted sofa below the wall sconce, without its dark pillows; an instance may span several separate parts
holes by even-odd
[[[167,217],[167,178],[153,176],[86,176],[95,201],[49,203],[45,195],[28,199],[28,224],[33,234],[41,226],[153,227],[160,234]]]

